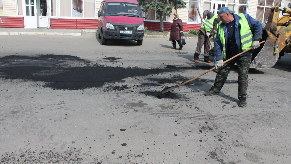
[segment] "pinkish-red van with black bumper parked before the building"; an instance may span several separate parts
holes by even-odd
[[[144,26],[137,0],[103,0],[98,11],[98,38],[102,45],[107,39],[131,39],[143,44]]]

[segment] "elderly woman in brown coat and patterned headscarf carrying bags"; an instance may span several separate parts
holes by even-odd
[[[171,26],[171,39],[173,41],[173,48],[176,49],[176,41],[179,44],[179,50],[182,50],[183,45],[180,43],[181,33],[183,33],[183,25],[182,20],[179,19],[179,15],[177,13],[174,14],[173,23]]]

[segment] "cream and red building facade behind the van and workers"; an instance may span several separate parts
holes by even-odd
[[[217,13],[223,6],[236,13],[248,13],[267,22],[271,6],[287,7],[291,0],[184,0],[187,8],[173,9],[183,22],[184,31],[199,29],[204,10]],[[0,27],[97,29],[102,0],[0,0]],[[148,11],[144,21],[148,30],[160,29],[159,15]],[[145,14],[145,13],[143,13]],[[281,15],[282,16],[282,15]],[[164,30],[171,28],[173,15],[164,18]]]

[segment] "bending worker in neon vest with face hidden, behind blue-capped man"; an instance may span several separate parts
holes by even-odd
[[[207,19],[205,20],[206,17]],[[198,35],[197,47],[194,53],[195,63],[199,63],[198,59],[203,45],[204,45],[204,62],[213,63],[212,61],[209,60],[210,41],[207,37],[214,35],[213,20],[215,18],[217,18],[217,15],[212,13],[211,11],[205,10],[203,12],[202,26],[199,29],[200,33]],[[205,32],[203,24],[205,25],[207,32]]]

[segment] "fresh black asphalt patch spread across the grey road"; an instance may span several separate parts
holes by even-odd
[[[105,60],[116,61],[120,58],[108,57]],[[70,55],[10,55],[0,58],[0,77],[4,79],[27,79],[44,81],[43,87],[63,90],[80,90],[101,87],[108,82],[123,81],[127,77],[147,76],[165,71],[179,69],[207,69],[210,66],[175,67],[164,69],[141,69],[138,67],[105,67],[92,64],[76,56]],[[174,69],[174,70],[173,70]],[[187,81],[188,78],[174,76],[169,79],[155,79],[157,85]],[[143,83],[145,84],[145,83]],[[113,90],[124,90],[127,86],[113,87]]]

